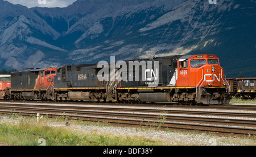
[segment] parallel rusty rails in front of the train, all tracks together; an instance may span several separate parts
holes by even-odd
[[[211,132],[217,135],[256,135],[256,113],[238,113],[234,111],[191,111],[187,109],[121,108],[120,106],[68,106],[35,104],[0,104],[1,114],[20,114],[24,116],[47,115],[93,122],[108,122],[117,126],[146,126],[159,129]],[[185,114],[185,115],[184,115]],[[200,117],[208,115],[208,117]],[[218,117],[209,117],[218,115]],[[223,118],[222,116],[228,116]]]

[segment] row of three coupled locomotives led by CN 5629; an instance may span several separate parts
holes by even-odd
[[[229,104],[230,86],[215,55],[177,55],[11,73],[14,100]]]

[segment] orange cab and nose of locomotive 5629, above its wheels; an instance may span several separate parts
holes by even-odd
[[[177,86],[225,86],[224,71],[215,55],[196,55],[179,59]]]

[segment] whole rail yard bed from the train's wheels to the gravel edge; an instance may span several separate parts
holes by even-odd
[[[224,137],[256,135],[256,106],[176,106],[174,104],[120,105],[92,102],[15,102],[1,101],[0,114],[19,114],[89,122],[113,126],[145,127],[170,131],[210,133]]]

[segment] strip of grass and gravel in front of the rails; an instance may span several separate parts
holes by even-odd
[[[160,126],[165,116],[159,117]],[[222,138],[214,135],[199,134],[191,132],[171,131],[166,128],[165,132],[155,132],[159,124],[153,129],[140,127],[131,130],[131,134],[110,133],[110,131],[97,130],[99,127],[110,127],[108,123],[85,122],[80,120],[69,120],[71,126],[65,126],[65,117],[47,118],[36,122],[36,117],[21,117],[13,114],[6,117],[0,114],[0,143],[17,146],[170,146],[170,145],[209,145],[209,139],[216,139],[220,145],[256,145],[256,139],[246,138]],[[93,129],[82,129],[90,127]],[[95,129],[94,129],[95,128]],[[112,128],[110,128],[112,129]],[[142,132],[159,134],[170,134],[167,138],[145,137]],[[134,133],[134,134],[133,134]],[[199,137],[202,143],[196,141]]]

